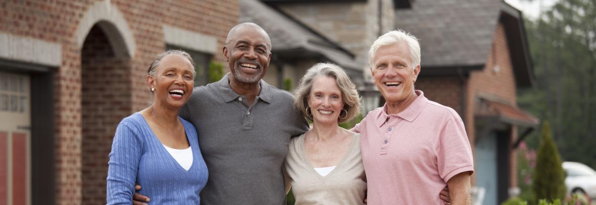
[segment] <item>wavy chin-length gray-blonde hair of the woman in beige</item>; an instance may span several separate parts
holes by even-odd
[[[343,108],[347,111],[347,116],[344,119],[338,118],[338,123],[346,122],[360,114],[360,97],[356,91],[356,85],[352,83],[342,67],[333,63],[317,63],[306,71],[304,77],[300,79],[300,85],[294,91],[294,96],[296,96],[294,107],[300,110],[303,116],[312,121],[312,116],[306,114],[306,108],[308,107],[308,97],[311,94],[312,81],[317,76],[333,77],[342,91]]]

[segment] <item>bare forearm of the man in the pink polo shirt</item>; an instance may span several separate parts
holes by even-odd
[[[462,172],[453,176],[447,182],[449,187],[449,198],[452,204],[469,205],[470,201],[470,172]]]

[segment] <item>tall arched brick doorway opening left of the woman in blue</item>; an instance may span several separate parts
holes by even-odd
[[[116,39],[114,39],[116,38]],[[105,204],[108,154],[116,126],[131,114],[131,60],[122,52],[116,27],[100,21],[81,49],[82,196],[85,204]]]

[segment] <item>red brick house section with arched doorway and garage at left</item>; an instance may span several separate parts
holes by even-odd
[[[148,106],[153,57],[191,52],[197,83],[238,1],[0,2],[0,204],[105,204],[116,125]]]

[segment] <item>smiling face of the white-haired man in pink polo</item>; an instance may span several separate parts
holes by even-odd
[[[401,103],[416,97],[414,82],[420,66],[412,69],[409,47],[405,42],[378,48],[370,68],[375,85],[387,103]]]

